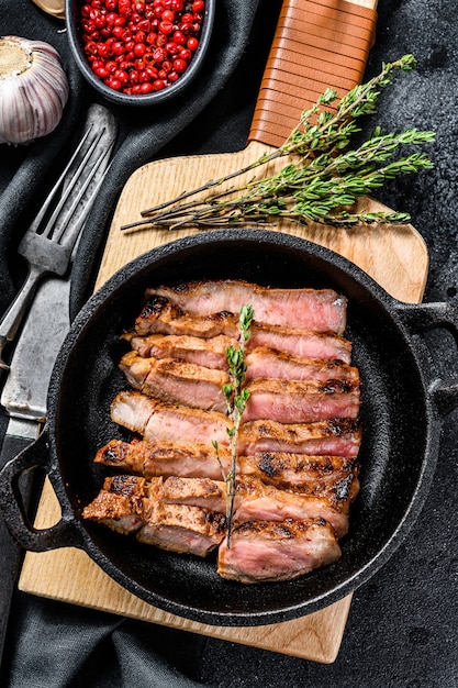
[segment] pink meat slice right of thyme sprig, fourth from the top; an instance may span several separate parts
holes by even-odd
[[[360,392],[346,380],[272,380],[248,385],[250,392],[243,421],[269,419],[280,423],[312,423],[332,418],[357,418]]]

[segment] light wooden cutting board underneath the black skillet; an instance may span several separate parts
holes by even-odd
[[[329,1],[333,7],[336,4],[336,0]],[[289,9],[294,0],[284,4]],[[358,0],[348,3],[346,0],[337,0],[337,4],[375,9],[377,2]],[[332,82],[328,85],[332,86]],[[275,100],[275,93],[272,98]],[[302,109],[303,103],[299,102],[298,108]],[[257,159],[268,147],[265,141],[258,138],[258,135],[256,138],[250,137],[247,147],[239,152],[169,158],[137,169],[129,179],[115,209],[96,289],[129,260],[183,235],[181,232],[147,229],[121,232],[122,225],[141,220],[139,212],[144,208],[175,198],[183,190]],[[370,199],[362,201],[362,204],[371,210],[380,208]],[[428,256],[423,238],[412,225],[336,230],[320,225],[304,229],[283,222],[272,231],[295,234],[346,256],[401,301],[422,300]],[[47,528],[58,519],[59,506],[51,485],[46,482],[36,526]],[[19,587],[35,595],[321,663],[331,663],[337,656],[351,602],[351,596],[347,596],[319,612],[272,625],[210,626],[163,612],[143,602],[115,584],[85,553],[70,548],[27,553]]]

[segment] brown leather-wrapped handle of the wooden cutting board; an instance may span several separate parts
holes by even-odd
[[[361,82],[375,41],[376,5],[377,0],[283,2],[249,141],[281,146],[326,88],[342,97]]]

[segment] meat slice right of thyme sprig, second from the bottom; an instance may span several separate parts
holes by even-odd
[[[234,520],[284,521],[292,519],[324,519],[331,523],[336,537],[348,532],[349,491],[343,498],[329,495],[301,495],[264,485],[256,478],[239,476],[236,481]]]

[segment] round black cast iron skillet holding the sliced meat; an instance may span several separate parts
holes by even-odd
[[[228,582],[217,576],[213,558],[165,553],[80,518],[108,470],[93,465],[97,448],[129,436],[109,418],[115,392],[126,388],[116,369],[124,351],[120,333],[139,312],[146,286],[205,278],[334,287],[348,298],[347,336],[364,385],[361,490],[342,559],[293,581]],[[387,562],[429,488],[443,417],[458,406],[458,381],[435,376],[422,336],[437,326],[458,341],[450,306],[400,303],[348,260],[286,234],[214,231],[156,248],[114,275],[77,317],[53,373],[46,426],[1,474],[10,530],[29,550],[81,547],[143,600],[203,623],[275,623],[327,606]],[[47,471],[63,510],[62,521],[45,531],[34,531],[19,508],[19,475],[34,466]]]

